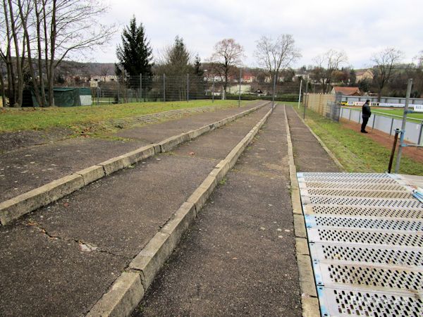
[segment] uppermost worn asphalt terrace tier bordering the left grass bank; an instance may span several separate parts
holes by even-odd
[[[212,111],[215,107],[204,107],[182,109],[179,113],[154,113],[136,118],[140,124],[145,123],[142,127],[120,130],[110,135],[111,139],[78,137],[3,151],[0,153],[0,202],[115,156],[196,130],[259,104],[264,103],[258,101],[240,108],[216,111]],[[125,141],[114,137],[123,137]]]

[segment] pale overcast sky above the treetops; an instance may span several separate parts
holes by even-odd
[[[202,61],[216,42],[233,38],[244,46],[246,66],[257,66],[253,56],[257,39],[291,34],[302,58],[294,67],[311,65],[328,49],[344,50],[349,65],[364,68],[372,54],[395,46],[411,62],[423,50],[422,0],[109,0],[103,23],[116,23],[113,42],[92,61],[116,62],[121,31],[135,15],[143,23],[154,56],[183,37]]]

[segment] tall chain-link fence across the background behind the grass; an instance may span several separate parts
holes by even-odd
[[[188,101],[195,99],[272,100],[274,82],[243,75],[221,77],[206,75],[104,76],[75,87],[90,87],[92,104],[123,104],[141,101]],[[299,82],[275,85],[276,101],[298,101]]]

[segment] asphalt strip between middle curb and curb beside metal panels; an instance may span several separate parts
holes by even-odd
[[[287,151],[277,106],[133,316],[301,316]]]

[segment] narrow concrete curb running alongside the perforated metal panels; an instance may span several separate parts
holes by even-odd
[[[295,254],[297,256],[298,274],[300,275],[301,306],[302,316],[320,316],[319,299],[317,299],[316,285],[312,268],[312,258],[309,255],[307,243],[307,231],[305,220],[302,216],[302,205],[300,189],[297,180],[297,169],[295,168],[293,142],[290,137],[288,117],[286,116],[286,142],[288,143],[289,177],[291,185],[291,201],[293,204],[294,232],[295,232]]]

